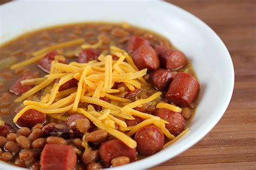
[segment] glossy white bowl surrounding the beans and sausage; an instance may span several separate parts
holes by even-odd
[[[0,10],[0,43],[26,31],[56,24],[128,22],[164,35],[190,59],[199,78],[201,91],[189,132],[163,151],[118,169],[149,168],[184,152],[211,131],[230,102],[234,70],[226,46],[204,22],[177,6],[155,1],[22,1],[1,5]],[[0,162],[0,166],[3,169],[18,169],[3,162]]]

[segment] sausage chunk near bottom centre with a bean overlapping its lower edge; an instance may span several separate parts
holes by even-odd
[[[129,157],[132,161],[136,159],[137,154],[136,149],[130,148],[119,139],[111,139],[100,145],[99,156],[104,164],[110,166],[113,158],[125,156]]]

